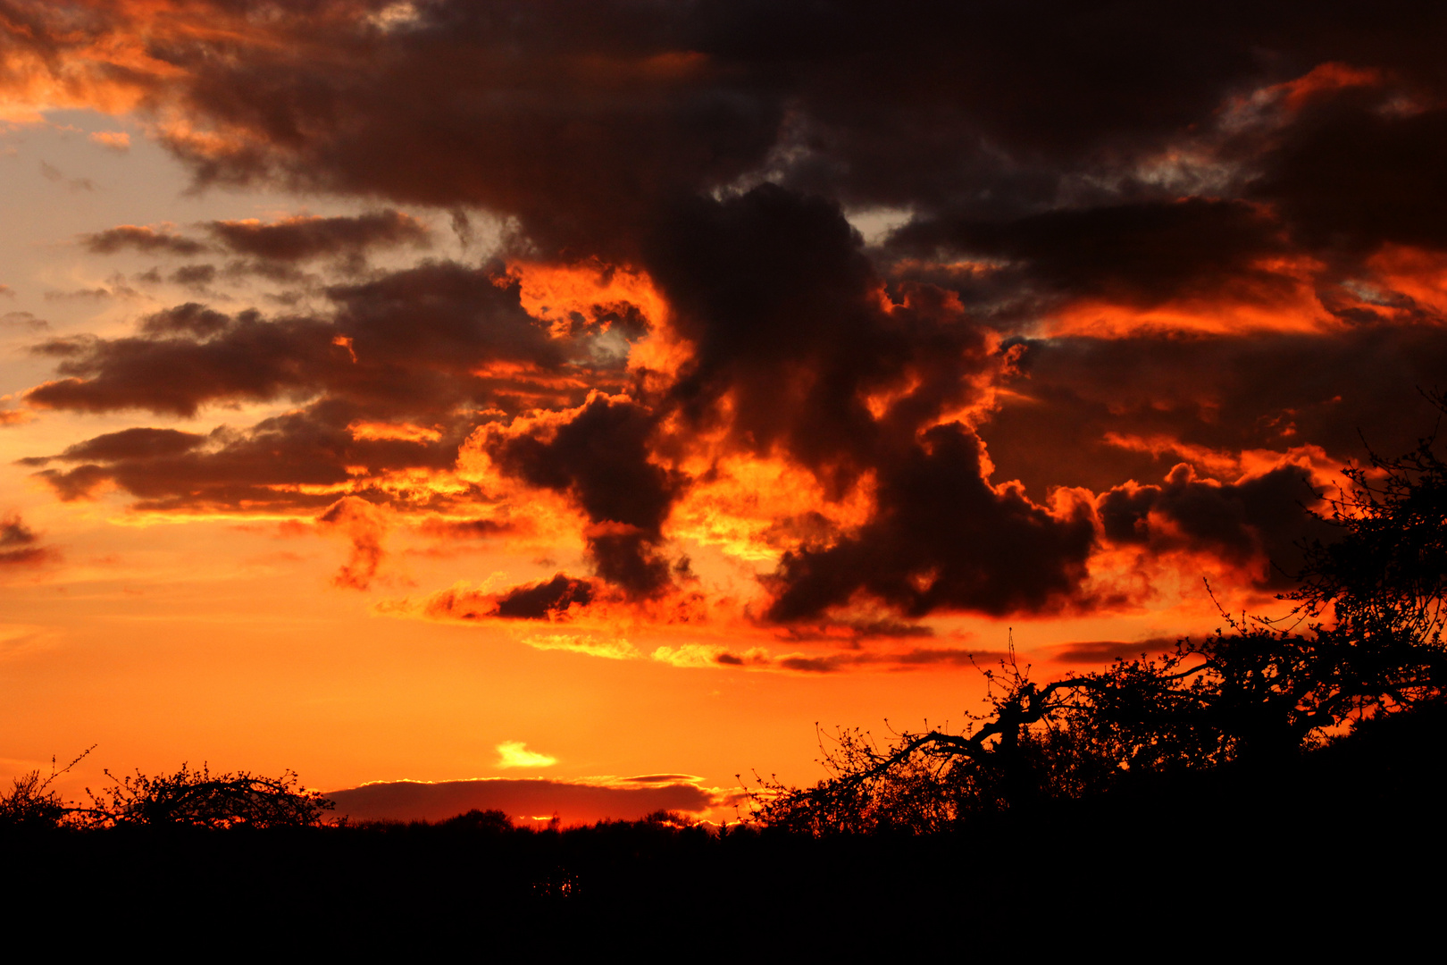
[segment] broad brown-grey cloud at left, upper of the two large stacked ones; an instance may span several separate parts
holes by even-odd
[[[318,392],[368,404],[373,415],[433,415],[462,402],[505,401],[479,375],[491,362],[556,369],[563,350],[486,269],[427,263],[327,291],[331,317],[226,318],[181,305],[153,314],[139,336],[51,340],[64,376],[26,398],[46,408],[142,408],[194,415],[205,404],[304,399]]]

